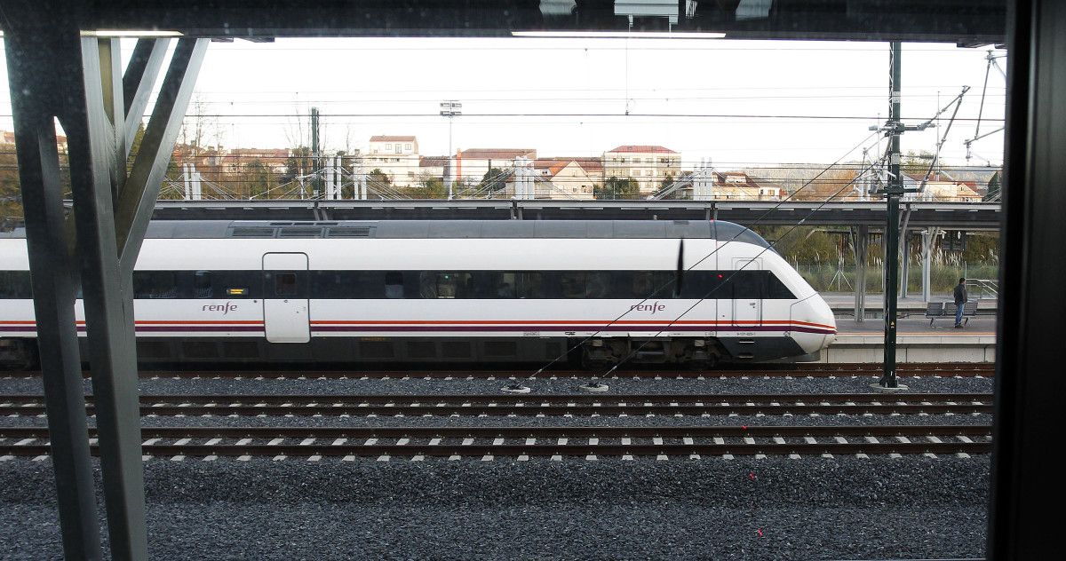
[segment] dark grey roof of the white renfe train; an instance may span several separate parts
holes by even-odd
[[[26,230],[0,232],[26,237]],[[723,220],[154,220],[147,238],[716,238],[770,247],[759,234]]]

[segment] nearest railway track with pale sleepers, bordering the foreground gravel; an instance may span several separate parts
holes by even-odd
[[[833,427],[166,427],[143,428],[146,457],[427,457],[700,459],[812,455],[972,455],[991,451],[990,426]],[[97,453],[96,431],[90,443]],[[43,428],[0,427],[0,460],[44,459]]]

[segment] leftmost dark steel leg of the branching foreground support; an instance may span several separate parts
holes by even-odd
[[[63,53],[67,62],[77,60],[70,45],[71,37],[78,40],[77,30],[65,31],[66,40],[59,33],[39,35],[35,27],[9,27],[4,48],[63,554],[66,559],[99,559],[100,531],[75,325],[75,265],[64,232],[54,125],[65,93],[56,77],[80,67],[42,70],[55,64],[49,54]]]

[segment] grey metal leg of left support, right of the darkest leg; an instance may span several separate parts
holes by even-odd
[[[66,78],[70,90],[61,120],[70,159],[109,545],[115,559],[146,559],[133,310],[123,296],[110,177],[114,135],[108,134],[96,39],[71,40],[80,40],[82,68]]]

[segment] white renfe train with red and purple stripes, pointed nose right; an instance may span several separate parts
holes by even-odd
[[[28,269],[25,232],[0,233],[12,364],[36,352]],[[836,334],[762,237],[718,220],[154,221],[132,286],[145,365],[704,368],[809,360]]]

